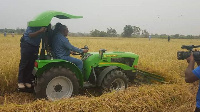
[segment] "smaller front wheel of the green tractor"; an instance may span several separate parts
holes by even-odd
[[[120,70],[113,70],[108,73],[102,82],[102,88],[105,92],[125,90],[128,86],[127,76]]]

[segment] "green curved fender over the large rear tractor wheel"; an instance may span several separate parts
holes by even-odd
[[[74,65],[71,62],[48,63],[45,66],[43,66],[42,68],[38,69],[36,71],[35,76],[40,77],[45,71],[50,70],[52,67],[59,67],[59,66],[70,69],[76,75],[77,79],[79,80],[80,86],[83,86],[83,75],[82,75],[81,71],[79,70],[79,68],[76,67],[76,65]]]

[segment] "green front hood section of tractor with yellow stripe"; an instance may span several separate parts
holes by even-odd
[[[102,79],[107,74],[103,74],[102,71],[109,67],[135,73],[138,58],[138,55],[130,52],[105,52],[101,54],[100,50],[100,52],[87,53],[82,58],[84,80],[100,86]],[[132,75],[135,75],[134,73]],[[91,78],[92,75],[95,75],[93,76],[95,78]],[[94,82],[94,79],[96,79],[96,82]]]

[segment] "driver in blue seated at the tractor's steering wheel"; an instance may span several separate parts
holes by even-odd
[[[74,63],[80,71],[83,68],[83,62],[80,59],[70,57],[70,52],[87,53],[88,49],[79,49],[74,47],[68,40],[68,28],[61,23],[57,23],[54,29],[54,37],[52,39],[52,50],[57,59],[63,59]]]

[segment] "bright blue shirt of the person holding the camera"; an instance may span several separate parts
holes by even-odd
[[[195,68],[192,73],[200,79],[200,66]],[[200,86],[200,83],[199,83]],[[198,89],[197,96],[196,96],[196,107],[200,108],[200,89]]]

